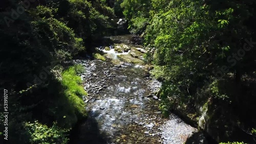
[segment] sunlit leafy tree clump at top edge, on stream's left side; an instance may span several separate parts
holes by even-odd
[[[106,28],[111,27],[108,18],[114,16],[113,9],[99,5],[99,1],[69,0],[68,2],[70,6],[66,17],[68,26],[84,39],[90,38],[93,34],[102,34]]]

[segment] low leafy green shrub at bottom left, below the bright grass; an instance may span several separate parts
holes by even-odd
[[[57,126],[56,123],[53,123],[52,127],[48,127],[46,125],[38,123],[35,121],[34,123],[26,123],[25,129],[29,133],[30,143],[42,143],[42,144],[50,144],[50,143],[68,143],[67,132],[68,129],[62,129]]]

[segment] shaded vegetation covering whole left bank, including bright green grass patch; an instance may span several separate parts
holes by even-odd
[[[69,141],[70,129],[87,115],[87,93],[77,76],[83,67],[64,62],[90,51],[113,17],[99,0],[0,2],[0,83],[9,95],[10,143]]]

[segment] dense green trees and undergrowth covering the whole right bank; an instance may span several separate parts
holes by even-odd
[[[124,0],[121,6],[130,31],[145,33],[152,74],[163,81],[160,108],[197,121],[217,141],[252,142],[255,1]]]

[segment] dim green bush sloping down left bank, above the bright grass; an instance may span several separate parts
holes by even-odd
[[[49,50],[55,52],[59,61],[71,59],[72,55],[84,50],[81,38],[76,38],[72,29],[55,18],[39,18],[32,21],[34,36],[41,39]]]

